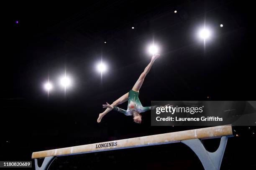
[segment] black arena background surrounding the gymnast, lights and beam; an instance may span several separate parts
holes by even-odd
[[[34,151],[195,128],[153,127],[150,112],[141,125],[115,111],[96,122],[102,104],[131,90],[150,61],[146,47],[153,38],[161,57],[140,90],[143,105],[151,100],[255,100],[255,15],[249,2],[13,1],[1,2],[1,8],[0,160],[28,161]],[[196,37],[204,23],[214,33],[205,47]],[[102,80],[95,70],[101,57],[108,63]],[[49,76],[57,84],[65,68],[73,87],[64,95],[56,85],[48,97],[43,83]],[[239,137],[229,138],[221,169],[256,168],[254,130],[240,127]],[[218,141],[204,143],[213,151]],[[100,168],[202,165],[192,150],[176,143],[59,157],[50,169]]]

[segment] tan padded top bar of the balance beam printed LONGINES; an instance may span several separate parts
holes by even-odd
[[[228,135],[233,135],[231,125],[215,126],[210,128],[184,130],[179,132],[163,133],[158,135],[149,135],[137,138],[114,140],[102,143],[93,143],[88,145],[79,145],[68,148],[44,150],[32,153],[32,159],[45,158],[49,156],[75,155],[81,153],[100,152],[106,150],[135,148],[149,145],[161,145],[167,143],[180,142],[181,140],[216,138]]]

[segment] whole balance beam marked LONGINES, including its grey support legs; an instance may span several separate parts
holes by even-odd
[[[220,168],[227,139],[230,136],[233,136],[231,125],[215,126],[210,128],[184,130],[180,132],[149,135],[122,140],[113,140],[109,142],[94,143],[88,145],[79,145],[68,148],[44,150],[40,152],[33,152],[32,159],[35,159],[36,170],[45,170],[48,169],[49,163],[51,163],[57,156],[77,155],[83,153],[92,153],[108,150],[118,150],[181,142],[189,146],[189,148],[191,148],[196,153],[196,155],[200,158],[205,169],[216,170]],[[207,150],[205,150],[204,146],[199,140],[220,137],[220,146],[218,150],[215,151],[215,153],[209,153]],[[215,160],[216,155],[218,159]],[[45,161],[46,163],[43,163],[41,168],[38,167],[37,158],[45,158],[44,163]]]

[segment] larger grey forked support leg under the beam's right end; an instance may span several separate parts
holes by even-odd
[[[181,142],[195,152],[206,170],[220,169],[222,158],[228,142],[227,136],[221,137],[219,148],[213,153],[208,152],[199,139],[182,140]]]

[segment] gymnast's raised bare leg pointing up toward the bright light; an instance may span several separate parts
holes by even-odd
[[[133,86],[133,91],[139,92],[141,85],[143,84],[144,78],[146,77],[146,75],[148,74],[148,72],[150,71],[153,63],[155,62],[155,60],[160,57],[160,54],[155,54],[153,55],[151,61],[149,62],[148,66],[145,68],[145,70],[141,73],[140,77],[138,78],[138,80],[136,81],[135,85]]]

